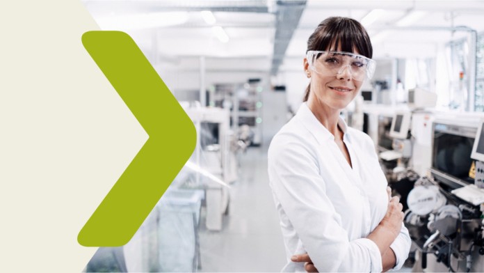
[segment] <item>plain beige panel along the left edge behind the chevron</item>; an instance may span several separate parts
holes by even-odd
[[[80,272],[77,234],[147,134],[81,44],[80,1],[0,1],[0,272]]]

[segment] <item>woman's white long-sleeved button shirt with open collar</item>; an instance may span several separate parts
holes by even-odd
[[[388,207],[387,180],[371,138],[339,119],[353,169],[334,136],[303,103],[268,150],[268,173],[284,244],[284,272],[305,272],[294,254],[308,253],[319,272],[381,272],[377,245],[366,236]],[[392,244],[396,267],[410,251],[402,225]]]

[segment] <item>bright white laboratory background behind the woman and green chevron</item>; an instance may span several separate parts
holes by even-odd
[[[282,270],[268,147],[302,104],[307,39],[333,16],[373,45],[374,75],[340,116],[401,198],[412,246],[398,272],[484,272],[484,1],[82,3],[134,39],[197,134],[134,237],[85,272]]]

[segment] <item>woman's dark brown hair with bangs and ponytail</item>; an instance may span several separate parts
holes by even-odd
[[[371,59],[373,47],[366,30],[357,20],[346,17],[329,17],[321,22],[307,39],[307,50],[336,50],[341,44],[341,51],[358,53]],[[311,84],[306,88],[303,102],[309,98]]]

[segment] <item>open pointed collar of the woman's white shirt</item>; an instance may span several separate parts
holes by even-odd
[[[302,123],[302,125],[304,125],[304,127],[306,127],[306,129],[314,135],[316,141],[318,141],[319,144],[323,144],[324,141],[328,140],[334,141],[333,134],[331,134],[330,131],[328,131],[328,129],[326,129],[326,127],[324,127],[319,122],[318,118],[314,116],[311,109],[309,109],[309,107],[307,106],[307,102],[303,102],[301,104],[298,109],[298,113],[296,114],[296,117],[298,118],[298,120],[300,120],[300,123]],[[341,118],[341,116],[339,117],[338,125],[344,133],[344,141],[350,141],[348,126],[344,122],[343,118]]]

